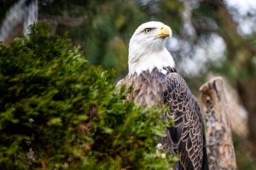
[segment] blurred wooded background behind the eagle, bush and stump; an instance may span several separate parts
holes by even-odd
[[[9,8],[18,2],[0,3],[2,23]],[[241,12],[241,7],[231,2],[43,0],[38,1],[38,20],[49,21],[55,34],[68,31],[91,65],[117,69],[117,79],[128,72],[128,43],[137,26],[148,20],[171,26],[173,38],[167,48],[192,92],[198,94],[211,75],[224,77],[230,85],[232,95],[227,97],[236,120],[232,121],[236,161],[239,169],[256,169],[256,5]],[[14,32],[21,32],[17,28]]]

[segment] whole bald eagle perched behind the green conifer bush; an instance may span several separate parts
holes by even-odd
[[[208,169],[200,108],[187,83],[175,69],[172,55],[165,47],[172,30],[161,22],[139,26],[129,43],[129,73],[118,85],[132,85],[130,99],[138,105],[168,105],[163,118],[172,117],[174,127],[166,127],[161,137],[164,150],[176,153],[173,169]]]

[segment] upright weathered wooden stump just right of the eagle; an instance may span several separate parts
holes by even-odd
[[[237,169],[230,108],[224,93],[222,77],[206,82],[201,86],[200,91],[201,111],[206,123],[209,169]]]

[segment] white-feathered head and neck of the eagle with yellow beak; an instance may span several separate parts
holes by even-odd
[[[166,49],[166,39],[172,37],[172,30],[161,22],[150,21],[139,26],[129,43],[129,75],[157,68],[166,74],[163,67],[174,68],[172,55]]]

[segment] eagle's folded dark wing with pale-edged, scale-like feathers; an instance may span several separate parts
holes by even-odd
[[[180,156],[174,168],[208,169],[200,108],[187,83],[176,72],[166,75],[164,98],[170,108],[164,117],[172,117],[174,127],[167,128],[162,144],[165,150]]]

